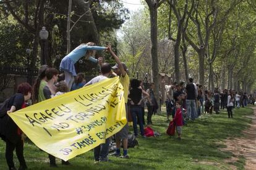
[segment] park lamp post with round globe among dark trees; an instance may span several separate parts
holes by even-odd
[[[46,56],[48,54],[48,47],[47,47],[47,38],[49,36],[48,31],[45,29],[45,26],[43,26],[42,30],[39,32],[39,36],[42,42],[42,47],[41,47],[41,65],[46,64]]]

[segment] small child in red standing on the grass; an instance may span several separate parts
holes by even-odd
[[[182,132],[182,126],[183,126],[183,122],[182,122],[182,101],[176,101],[176,113],[175,116],[173,118],[173,121],[175,123],[176,126],[176,131],[178,134],[177,139],[181,140],[181,132]]]

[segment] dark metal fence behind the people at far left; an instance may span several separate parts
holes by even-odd
[[[17,92],[20,83],[33,84],[38,70],[29,68],[0,67],[0,102],[3,102]]]

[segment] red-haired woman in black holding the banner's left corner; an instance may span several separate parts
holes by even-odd
[[[28,83],[22,83],[18,86],[17,94],[13,95],[7,100],[7,113],[12,114],[12,112],[20,110],[25,107],[25,102],[30,99],[32,92],[32,87]],[[1,136],[6,142],[6,161],[9,169],[16,169],[14,166],[14,149],[16,150],[17,158],[20,162],[20,170],[27,169],[27,164],[23,156],[23,140],[25,134],[19,129],[17,124],[9,117],[9,115],[4,116],[1,119]]]

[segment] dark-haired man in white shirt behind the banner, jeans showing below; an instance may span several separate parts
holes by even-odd
[[[95,84],[95,83],[98,83],[105,79],[108,79],[108,76],[112,72],[109,63],[101,63],[100,71],[101,71],[101,75],[93,78],[91,81],[89,81],[87,84],[85,84],[85,86],[89,86],[90,84]],[[109,161],[108,160],[109,144],[110,144],[110,139],[108,138],[108,139],[106,139],[105,144],[100,144],[100,145],[98,145],[98,147],[95,147],[93,149],[95,162]]]

